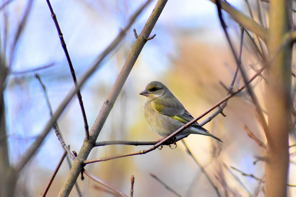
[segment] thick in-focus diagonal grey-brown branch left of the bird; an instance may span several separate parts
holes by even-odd
[[[146,2],[146,5],[150,1]],[[135,45],[131,49],[130,54],[128,55],[128,58],[126,62],[124,63],[109,95],[107,96],[107,99],[104,101],[104,104],[99,112],[99,115],[97,116],[94,125],[92,126],[90,130],[90,139],[84,140],[83,145],[81,147],[81,150],[77,156],[77,159],[75,159],[73,167],[67,177],[67,180],[65,181],[64,185],[62,186],[59,195],[58,196],[68,196],[70,191],[72,190],[72,187],[76,181],[76,179],[79,176],[79,173],[81,172],[83,168],[83,161],[87,159],[89,156],[89,153],[91,149],[94,147],[95,141],[97,137],[99,136],[99,133],[104,125],[104,122],[107,119],[108,114],[110,113],[122,87],[125,83],[129,73],[131,72],[131,69],[133,68],[133,65],[136,62],[136,59],[138,58],[141,50],[143,49],[145,43],[147,42],[147,38],[149,38],[150,33],[152,32],[152,29],[158,20],[167,0],[159,0],[153,9],[149,19],[147,20],[143,30],[141,31],[140,35],[138,36]],[[145,6],[142,6],[141,10],[144,9]]]

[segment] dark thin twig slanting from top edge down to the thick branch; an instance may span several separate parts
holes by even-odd
[[[65,55],[66,55],[66,58],[67,58],[67,61],[68,61],[69,67],[70,67],[70,71],[71,71],[71,75],[72,75],[72,78],[73,78],[73,81],[74,81],[75,88],[77,88],[78,83],[77,83],[77,79],[76,79],[76,75],[75,75],[75,70],[73,68],[73,64],[72,64],[72,61],[70,59],[70,55],[69,55],[69,52],[68,52],[68,49],[67,49],[63,34],[62,34],[62,30],[59,27],[59,23],[57,21],[57,16],[54,13],[54,10],[52,9],[52,5],[50,4],[49,0],[46,0],[46,1],[47,1],[47,4],[48,4],[48,7],[50,9],[50,12],[52,14],[52,19],[54,20],[54,24],[56,25],[57,32],[59,34],[59,39],[61,41],[62,47],[63,47],[63,49],[65,51]],[[83,101],[82,101],[82,96],[81,96],[81,92],[80,92],[79,88],[77,88],[76,94],[77,94],[77,98],[78,98],[78,101],[79,101],[79,105],[80,105],[81,113],[82,113],[82,117],[83,117],[84,130],[85,130],[85,139],[88,140],[89,139],[89,125],[87,123],[86,113],[85,113],[85,109],[84,109],[84,105],[83,105]]]

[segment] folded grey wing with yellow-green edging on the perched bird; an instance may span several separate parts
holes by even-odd
[[[184,124],[194,119],[178,99],[154,99],[153,103],[156,112],[170,116]],[[192,126],[202,128],[197,122],[194,122]]]

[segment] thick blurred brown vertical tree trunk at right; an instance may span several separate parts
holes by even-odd
[[[290,32],[291,1],[270,1],[269,59],[267,62],[266,106],[268,112],[266,152],[266,196],[287,196],[289,168],[288,134],[291,129],[292,44],[282,46]],[[282,47],[280,49],[280,47]]]

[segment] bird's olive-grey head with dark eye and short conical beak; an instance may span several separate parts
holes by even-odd
[[[147,99],[157,99],[169,91],[168,88],[159,81],[152,81],[148,83],[145,90],[141,91],[141,95],[146,96]]]

